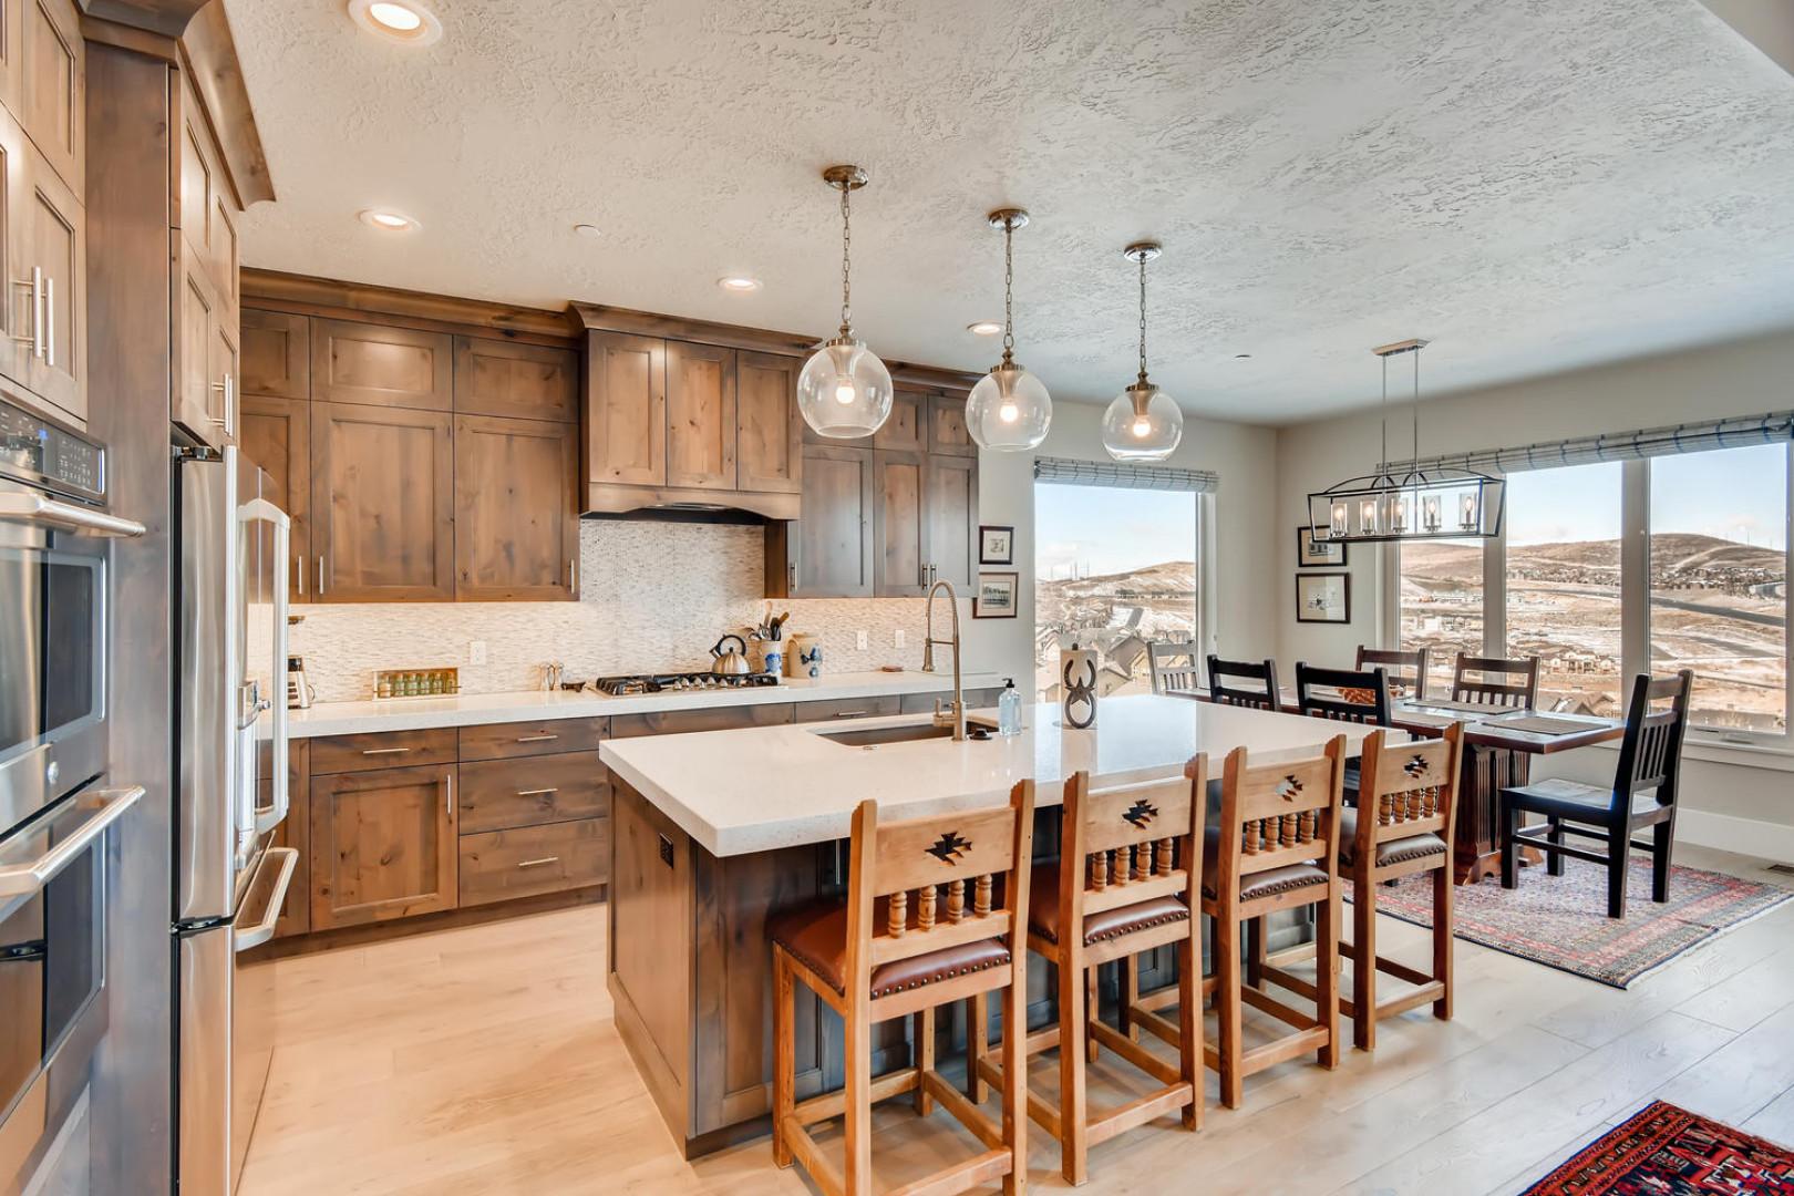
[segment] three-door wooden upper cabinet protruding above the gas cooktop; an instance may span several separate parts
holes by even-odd
[[[802,362],[719,344],[587,334],[587,509],[716,507],[795,518]]]

